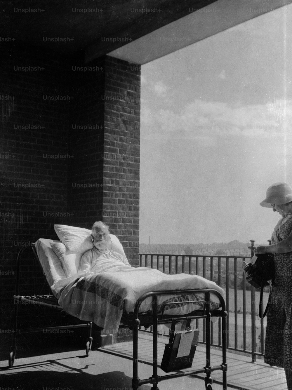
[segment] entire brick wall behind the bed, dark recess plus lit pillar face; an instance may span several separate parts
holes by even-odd
[[[12,326],[17,253],[57,239],[54,223],[103,220],[138,264],[140,70],[104,57],[89,64],[96,71],[81,72],[78,60],[17,46],[2,46],[1,59],[3,330]],[[28,260],[23,276],[32,271]],[[30,286],[20,293],[32,294]]]

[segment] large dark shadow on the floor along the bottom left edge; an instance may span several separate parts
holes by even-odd
[[[56,371],[25,371],[0,376],[1,388],[14,390],[130,390],[131,378],[121,371],[111,371],[92,375]],[[150,390],[150,385],[143,385],[139,390]]]

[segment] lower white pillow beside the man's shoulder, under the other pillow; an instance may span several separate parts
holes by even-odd
[[[51,243],[51,248],[60,259],[66,276],[75,275],[78,272],[82,253],[72,252],[62,243]]]

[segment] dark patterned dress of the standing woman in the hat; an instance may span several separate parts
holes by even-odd
[[[272,244],[287,238],[291,230],[292,215],[289,215],[276,225]],[[276,253],[274,266],[275,279],[267,312],[265,363],[292,369],[292,252]]]

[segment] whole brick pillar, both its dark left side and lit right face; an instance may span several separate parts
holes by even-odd
[[[139,253],[140,66],[108,56],[87,66],[97,70],[71,77],[70,211],[78,226],[107,223],[134,265]]]

